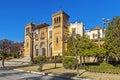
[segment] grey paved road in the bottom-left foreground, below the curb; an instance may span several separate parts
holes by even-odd
[[[0,69],[0,80],[69,80],[65,78],[38,75],[30,72]]]

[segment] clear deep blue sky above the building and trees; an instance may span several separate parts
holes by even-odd
[[[1,0],[0,39],[22,42],[26,24],[51,25],[51,15],[60,9],[70,16],[69,23],[83,22],[91,29],[103,27],[103,17],[120,16],[120,0]]]

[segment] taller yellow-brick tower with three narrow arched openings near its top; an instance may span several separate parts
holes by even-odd
[[[52,56],[62,56],[64,53],[68,20],[69,16],[64,11],[52,15]]]

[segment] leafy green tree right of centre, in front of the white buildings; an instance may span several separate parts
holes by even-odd
[[[80,38],[79,45],[78,45],[78,51],[80,56],[80,64],[82,65],[82,56],[85,63],[85,57],[86,56],[94,56],[93,49],[95,47],[95,43],[88,39],[86,36],[83,36]]]

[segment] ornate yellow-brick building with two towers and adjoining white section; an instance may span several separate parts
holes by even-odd
[[[69,24],[69,15],[59,11],[52,15],[52,25],[30,23],[25,26],[25,56],[63,56],[68,34],[84,35],[82,22]]]

